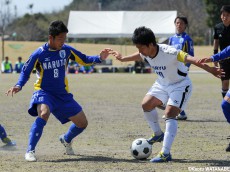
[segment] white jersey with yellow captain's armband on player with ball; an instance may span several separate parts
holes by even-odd
[[[167,86],[190,80],[187,75],[188,67],[184,64],[184,59],[188,54],[166,44],[158,44],[158,46],[159,50],[154,58],[140,54],[158,75],[156,82]]]

